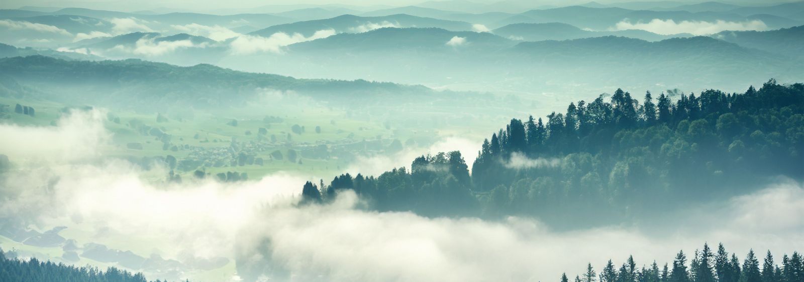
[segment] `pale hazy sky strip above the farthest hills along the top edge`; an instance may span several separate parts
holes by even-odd
[[[139,1],[109,1],[109,0],[4,0],[0,2],[2,9],[17,9],[22,6],[43,6],[43,7],[84,7],[90,9],[101,10],[150,10],[158,8],[170,9],[184,9],[184,10],[199,10],[199,9],[248,9],[259,6],[270,5],[298,5],[298,4],[313,4],[313,5],[331,5],[342,4],[352,6],[409,6],[417,5],[427,0],[237,0],[237,1],[218,1],[218,0],[139,0]],[[492,4],[500,2],[501,0],[470,0],[470,2]],[[527,4],[528,6],[568,6],[573,4],[582,4],[590,2],[591,0],[503,0],[504,2],[517,2],[519,4]],[[675,2],[704,2],[704,1],[689,1],[689,0],[674,0]],[[630,2],[630,1],[617,1],[617,0],[599,0],[601,3],[612,2]],[[644,2],[644,0],[642,0]],[[790,2],[787,0],[719,0],[719,2],[726,3],[739,3],[747,5],[769,5],[773,2]]]

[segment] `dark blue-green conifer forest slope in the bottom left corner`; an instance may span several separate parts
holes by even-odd
[[[18,260],[10,252],[0,249],[0,281],[27,282],[146,282],[142,273],[133,274],[118,268],[109,268],[105,272],[92,267],[75,267],[67,264],[55,264],[51,261]],[[13,255],[13,254],[11,254]],[[156,280],[159,282],[159,280]]]

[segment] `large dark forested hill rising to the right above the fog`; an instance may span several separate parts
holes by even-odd
[[[512,119],[486,139],[470,175],[460,152],[422,156],[377,177],[340,175],[306,201],[352,189],[378,210],[427,216],[539,216],[609,223],[804,178],[804,84],[743,94],[644,95],[617,89],[546,119]],[[322,195],[318,195],[322,191]]]

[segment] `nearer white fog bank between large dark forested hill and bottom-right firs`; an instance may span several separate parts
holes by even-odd
[[[781,200],[781,208],[766,198]],[[722,209],[703,210],[717,218],[679,222],[686,226],[666,226],[664,235],[654,236],[640,228],[616,226],[556,232],[538,220],[518,217],[495,222],[363,211],[353,208],[359,200],[347,191],[329,206],[266,210],[260,223],[246,232],[250,236],[242,237],[238,264],[271,265],[269,276],[279,280],[549,281],[558,280],[562,272],[580,274],[587,262],[599,271],[606,260],[623,263],[629,255],[638,266],[654,260],[662,265],[679,249],[691,254],[704,242],[723,242],[741,258],[749,248],[760,253],[770,249],[781,256],[804,248],[804,228],[795,220],[804,216],[802,200],[804,190],[798,183],[768,187],[729,199]],[[767,212],[740,217],[757,208]],[[788,220],[770,229],[755,226],[763,226],[766,216]],[[257,242],[270,247],[254,248]]]

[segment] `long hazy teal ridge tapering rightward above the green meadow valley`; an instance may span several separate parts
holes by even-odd
[[[31,86],[48,98],[129,107],[238,105],[265,91],[293,91],[330,103],[375,103],[378,98],[404,101],[442,94],[423,86],[294,79],[204,64],[174,66],[138,59],[68,61],[39,55],[0,58],[0,78]],[[0,91],[0,95],[31,94]]]

